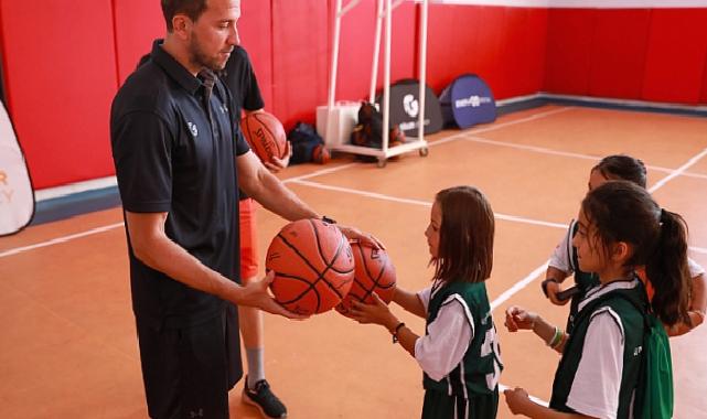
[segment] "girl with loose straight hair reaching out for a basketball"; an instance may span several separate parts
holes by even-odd
[[[439,192],[425,230],[435,265],[432,284],[397,288],[393,301],[427,319],[418,336],[375,296],[355,304],[361,323],[385,326],[424,372],[422,418],[495,418],[502,364],[484,281],[493,262],[494,217],[471,186]]]

